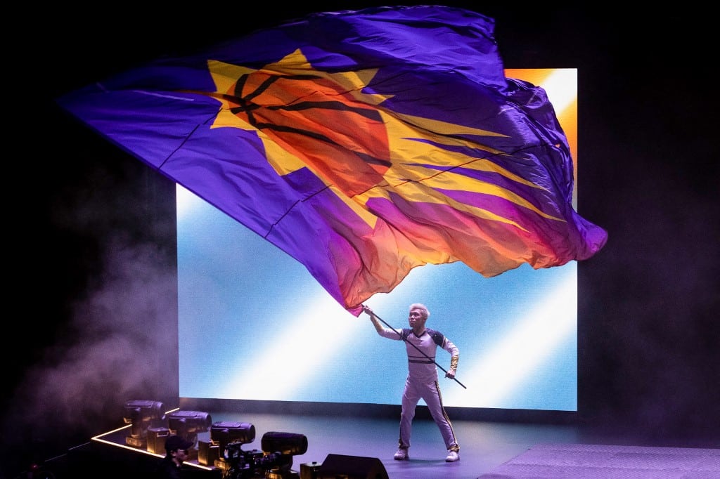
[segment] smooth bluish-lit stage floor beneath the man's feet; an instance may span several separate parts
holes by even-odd
[[[477,479],[490,474],[496,467],[522,455],[538,444],[614,444],[636,446],[683,447],[677,440],[666,439],[662,444],[629,434],[598,434],[588,432],[576,425],[518,424],[453,420],[452,424],[460,443],[458,462],[445,462],[446,450],[440,433],[430,419],[416,418],[413,426],[410,460],[396,461],[392,455],[397,450],[397,419],[363,418],[357,416],[305,416],[297,414],[258,414],[234,411],[208,411],[212,421],[250,423],[255,426],[256,439],[243,444],[245,451],[261,450],[261,437],[266,432],[303,434],[307,437],[307,451],[292,457],[292,470],[313,464],[321,465],[328,455],[347,455],[377,459],[382,462],[390,479]],[[93,442],[124,443],[126,431],[118,430],[101,434]],[[210,432],[198,434],[201,441],[210,440]],[[712,447],[705,442],[699,443]],[[693,444],[696,445],[696,444]],[[132,449],[132,448],[131,448]],[[102,451],[102,449],[101,449]],[[101,452],[102,454],[102,452]],[[131,455],[149,455],[159,460],[161,455],[130,451]],[[135,457],[137,461],[137,457]],[[367,464],[367,463],[366,463]],[[197,461],[188,465],[198,467]],[[369,467],[369,466],[368,466]],[[212,467],[210,467],[212,469]],[[306,469],[307,471],[307,469]],[[201,473],[202,471],[191,471]],[[215,470],[212,477],[220,477]],[[197,475],[199,477],[199,475]],[[207,476],[210,477],[210,476]]]

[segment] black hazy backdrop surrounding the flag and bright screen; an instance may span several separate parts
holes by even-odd
[[[6,48],[0,478],[122,425],[129,399],[179,401],[174,184],[53,99],[145,60],[373,4],[25,7]],[[495,18],[507,68],[578,68],[578,210],[609,239],[578,268],[577,421],[685,445],[719,437],[711,15],[449,4]]]

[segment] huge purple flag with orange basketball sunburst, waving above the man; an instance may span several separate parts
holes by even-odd
[[[323,12],[58,101],[359,315],[420,265],[490,277],[606,242],[572,207],[552,104],[505,78],[494,27],[446,6]]]

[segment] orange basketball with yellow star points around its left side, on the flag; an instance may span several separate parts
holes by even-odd
[[[214,126],[256,129],[278,173],[308,167],[352,197],[390,168],[387,129],[372,104],[382,97],[356,98],[372,76],[350,85],[347,73],[314,70],[299,51],[261,70],[215,62],[210,72],[223,104]]]

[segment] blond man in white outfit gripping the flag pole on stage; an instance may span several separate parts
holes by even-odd
[[[441,368],[445,371],[446,378],[454,379],[460,386],[465,388],[459,380],[455,379],[459,360],[458,348],[441,332],[425,327],[425,323],[430,317],[430,311],[424,304],[410,304],[410,313],[408,314],[410,327],[402,329],[390,327],[368,306],[363,305],[362,309],[370,316],[377,334],[387,339],[402,340],[405,342],[408,351],[408,378],[405,380],[405,390],[402,393],[400,439],[398,439],[398,448],[393,456],[394,459],[410,459],[408,449],[410,448],[410,435],[412,434],[415,408],[418,406],[420,399],[423,399],[428,406],[433,421],[440,429],[440,434],[442,434],[448,450],[445,460],[447,462],[459,460],[460,446],[443,406],[437,370],[437,368]],[[387,327],[380,324],[381,321]],[[450,353],[449,370],[445,370],[435,362],[435,352],[438,346]]]

